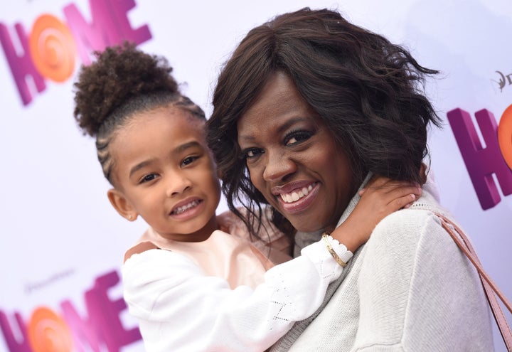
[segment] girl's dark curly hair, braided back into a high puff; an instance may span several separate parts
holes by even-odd
[[[199,119],[206,117],[201,107],[181,95],[163,56],[144,53],[129,42],[94,54],[95,62],[82,65],[74,84],[74,115],[82,132],[96,137],[103,174],[114,185],[110,142],[134,114],[172,105]]]

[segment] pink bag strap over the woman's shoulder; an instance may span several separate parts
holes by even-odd
[[[491,311],[494,315],[494,319],[496,319],[496,323],[498,324],[498,329],[501,333],[501,336],[503,337],[503,341],[505,341],[507,351],[512,352],[512,331],[510,326],[508,326],[505,315],[503,315],[503,311],[501,310],[498,299],[496,299],[496,294],[501,299],[501,302],[505,304],[508,311],[512,313],[511,302],[508,300],[505,294],[501,292],[501,289],[496,286],[491,277],[489,277],[489,274],[487,274],[484,268],[481,266],[480,260],[476,256],[476,252],[473,249],[473,246],[471,246],[471,242],[469,242],[468,238],[466,238],[464,231],[462,231],[455,223],[453,223],[452,220],[449,220],[449,218],[446,216],[439,213],[435,214],[441,219],[441,225],[444,230],[447,230],[449,235],[452,236],[455,243],[457,243],[459,246],[460,250],[464,252],[466,257],[468,257],[468,259],[473,263],[474,267],[476,267],[476,270],[479,272],[487,301],[491,306]],[[455,233],[449,225],[452,225],[457,233],[459,233],[459,235],[457,235],[457,233]]]

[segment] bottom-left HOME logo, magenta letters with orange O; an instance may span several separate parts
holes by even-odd
[[[119,318],[127,309],[124,299],[110,299],[108,295],[109,289],[118,283],[116,271],[97,277],[92,289],[85,292],[88,314],[85,317],[80,316],[68,300],[60,304],[62,318],[41,306],[33,311],[28,323],[16,312],[17,326],[11,326],[8,316],[0,310],[0,329],[9,352],[33,352],[33,348],[43,344],[57,346],[55,351],[70,351],[73,345],[73,351],[77,352],[100,352],[103,346],[110,352],[119,352],[122,347],[141,340],[139,328],[125,329]]]

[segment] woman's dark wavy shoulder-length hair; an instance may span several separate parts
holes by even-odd
[[[253,28],[225,63],[213,95],[208,144],[222,173],[230,210],[249,210],[260,220],[267,203],[250,181],[238,146],[237,122],[255,102],[269,78],[287,73],[306,102],[319,113],[336,142],[347,152],[354,186],[368,171],[423,183],[420,166],[427,156],[427,125],[441,122],[422,93],[430,70],[388,39],[349,23],[328,9],[301,9]],[[262,127],[264,128],[264,127]],[[272,219],[290,233],[276,210]]]

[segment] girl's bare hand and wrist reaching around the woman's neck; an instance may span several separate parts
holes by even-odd
[[[354,252],[370,238],[380,220],[396,210],[408,208],[421,194],[417,183],[376,176],[359,192],[361,200],[356,208],[331,236]]]

